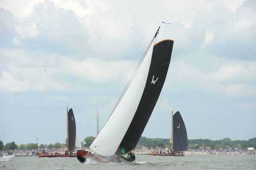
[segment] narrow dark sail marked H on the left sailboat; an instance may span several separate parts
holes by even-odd
[[[73,113],[73,109],[70,109],[67,113],[68,119],[68,152],[75,150],[76,146],[76,121]]]

